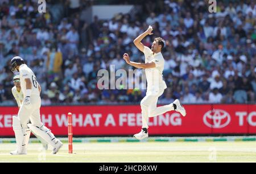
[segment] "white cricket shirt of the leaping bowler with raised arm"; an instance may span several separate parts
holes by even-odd
[[[157,95],[161,90],[167,88],[163,81],[164,58],[161,52],[153,53],[150,48],[144,46],[145,63],[154,62],[155,68],[146,69],[147,95]]]

